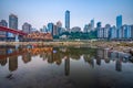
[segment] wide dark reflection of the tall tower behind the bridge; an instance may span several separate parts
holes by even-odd
[[[9,70],[13,72],[18,68],[18,56],[9,57]]]

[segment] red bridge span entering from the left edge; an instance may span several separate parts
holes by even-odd
[[[22,32],[22,31],[19,31],[19,30],[14,30],[14,29],[9,29],[9,28],[6,28],[6,26],[1,26],[0,25],[0,31],[3,31],[3,32],[10,32],[10,33],[13,33],[13,34],[17,34],[17,35],[28,35],[27,33]]]

